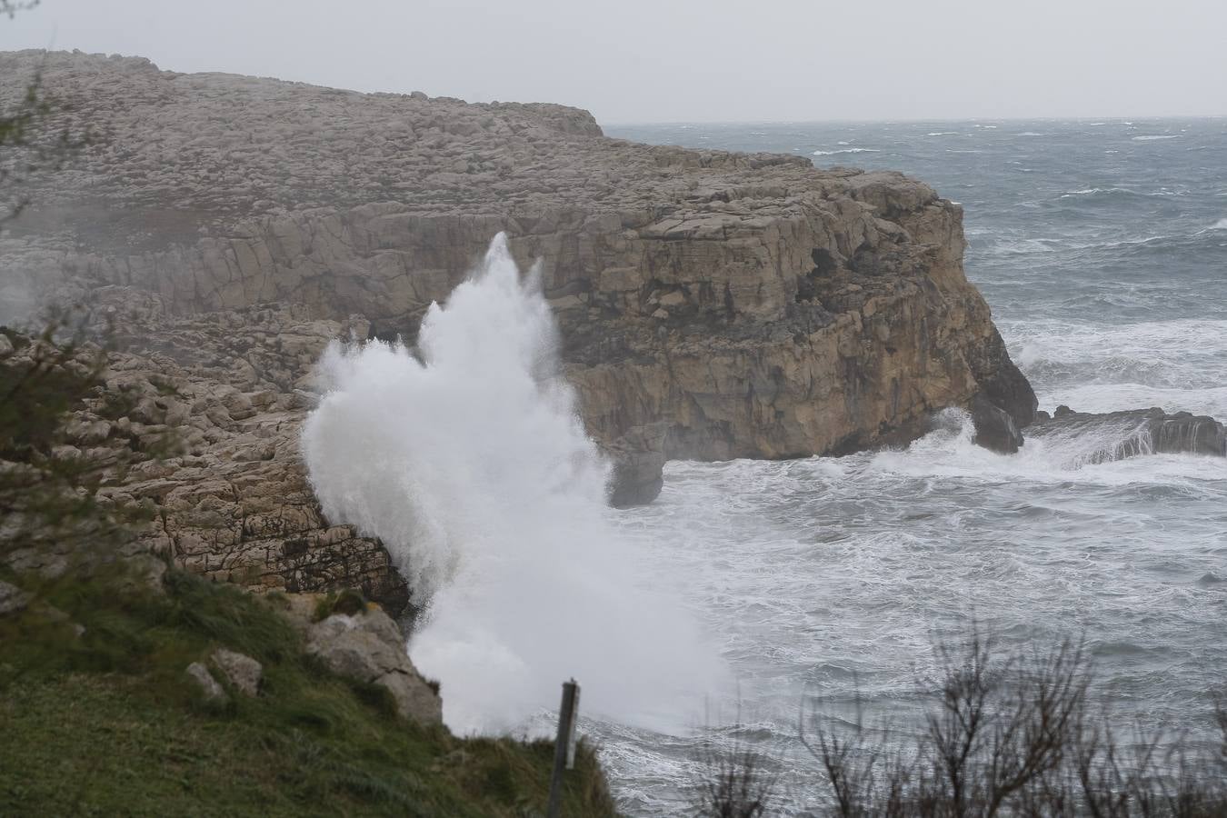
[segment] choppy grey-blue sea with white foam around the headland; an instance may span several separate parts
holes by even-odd
[[[606,132],[920,178],[966,208],[967,275],[1040,408],[1227,419],[1227,120]],[[696,752],[715,741],[774,759],[782,813],[804,812],[820,797],[805,703],[859,695],[906,733],[934,643],[973,622],[1006,649],[1083,638],[1124,724],[1207,737],[1227,678],[1227,460],[1087,464],[1077,448],[995,455],[947,412],[906,450],[670,464],[656,503],[611,519],[674,578],[735,684],[670,728],[583,722],[625,808],[685,814]]]

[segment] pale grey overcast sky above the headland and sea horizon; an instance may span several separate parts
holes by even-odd
[[[1223,0],[43,0],[0,49],[606,124],[1227,114]]]

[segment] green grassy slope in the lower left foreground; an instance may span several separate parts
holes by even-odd
[[[0,618],[0,816],[544,814],[552,742],[396,719],[303,654],[275,598],[167,586],[59,581]],[[259,697],[200,700],[184,668],[217,646],[264,665]],[[616,814],[591,748],[567,776],[564,816]]]

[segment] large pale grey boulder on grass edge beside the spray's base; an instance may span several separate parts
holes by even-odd
[[[396,623],[378,607],[357,614],[334,613],[312,624],[307,652],[334,673],[387,688],[401,716],[426,725],[442,724],[437,686],[417,672]]]

